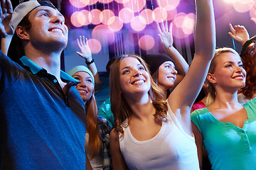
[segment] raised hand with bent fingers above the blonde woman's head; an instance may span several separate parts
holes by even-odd
[[[244,45],[247,40],[250,39],[249,33],[247,32],[244,26],[229,24],[231,32],[228,32],[231,38],[239,42],[241,45]]]

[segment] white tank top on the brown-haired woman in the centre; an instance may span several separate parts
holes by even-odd
[[[129,126],[123,128],[124,135],[119,137],[119,144],[129,169],[199,169],[195,139],[184,132],[169,105],[167,119],[150,140],[138,141]]]

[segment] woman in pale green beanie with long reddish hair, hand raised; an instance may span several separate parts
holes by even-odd
[[[90,47],[85,42],[85,37],[80,36],[78,40],[80,52],[78,55],[85,58],[87,66],[79,65],[70,69],[67,73],[74,79],[80,81],[76,86],[78,92],[85,103],[85,113],[87,118],[87,131],[85,135],[85,151],[92,169],[112,169],[110,157],[110,131],[112,128],[105,118],[97,115],[97,104],[95,101],[95,75],[97,68],[94,63],[88,63],[92,60]],[[93,60],[92,60],[93,61]],[[88,164],[87,164],[88,166]]]

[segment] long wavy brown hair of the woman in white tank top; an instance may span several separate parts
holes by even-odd
[[[146,62],[142,60],[141,57],[137,55],[122,55],[118,57],[117,60],[112,64],[110,72],[110,102],[111,102],[111,111],[114,114],[114,131],[123,135],[124,131],[122,126],[124,120],[128,119],[132,114],[131,108],[122,96],[121,86],[120,86],[120,62],[126,57],[133,57],[142,64],[146,72],[149,73],[149,69],[146,66]],[[151,88],[149,89],[149,96],[152,100],[154,108],[156,108],[156,113],[154,117],[157,120],[166,121],[166,112],[167,105],[166,101],[163,101],[164,92],[161,91],[159,86],[156,85],[152,77],[150,76]]]

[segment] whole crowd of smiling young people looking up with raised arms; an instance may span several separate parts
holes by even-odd
[[[0,169],[256,168],[256,38],[230,24],[242,51],[216,49],[212,0],[195,1],[189,66],[172,24],[156,23],[165,54],[113,57],[110,98],[100,108],[87,38],[76,52],[86,66],[63,72],[60,11],[48,0],[0,5]]]

